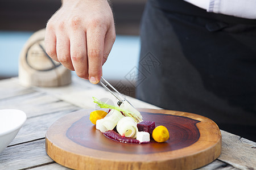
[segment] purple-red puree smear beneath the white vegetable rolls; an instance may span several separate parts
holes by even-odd
[[[149,143],[149,142],[139,142],[137,139],[122,137],[119,133],[114,130],[108,130],[103,133],[105,137],[108,137],[117,142],[123,143]]]

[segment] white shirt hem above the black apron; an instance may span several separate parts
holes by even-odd
[[[208,12],[256,19],[256,0],[184,0]]]

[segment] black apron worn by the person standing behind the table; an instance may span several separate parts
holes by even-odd
[[[138,99],[256,141],[256,20],[149,0],[136,86]]]

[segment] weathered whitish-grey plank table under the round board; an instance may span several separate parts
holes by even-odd
[[[14,141],[0,154],[0,169],[68,169],[46,154],[45,134],[53,122],[65,114],[92,109],[98,99],[113,96],[101,86],[72,77],[64,87],[23,87],[18,78],[0,81],[0,109],[20,109],[27,121]],[[137,108],[160,109],[128,97]],[[256,169],[256,143],[221,130],[222,152],[214,162],[200,169]],[[1,142],[1,141],[0,141]]]

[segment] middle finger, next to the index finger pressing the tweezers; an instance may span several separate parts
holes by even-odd
[[[88,61],[86,56],[86,36],[82,30],[73,32],[71,36],[71,60],[77,76],[88,79]]]

